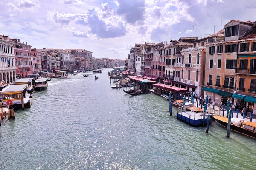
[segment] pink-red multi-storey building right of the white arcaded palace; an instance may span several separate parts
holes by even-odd
[[[20,39],[10,39],[15,42],[14,54],[17,76],[27,76],[32,74],[31,47],[20,42]]]

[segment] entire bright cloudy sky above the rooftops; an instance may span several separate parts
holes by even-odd
[[[135,43],[214,34],[255,16],[255,0],[0,0],[0,34],[125,59]]]

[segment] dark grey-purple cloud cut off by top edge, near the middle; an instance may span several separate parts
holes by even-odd
[[[118,15],[122,15],[125,21],[130,24],[143,24],[145,20],[145,1],[144,0],[118,0],[119,6],[116,10]]]

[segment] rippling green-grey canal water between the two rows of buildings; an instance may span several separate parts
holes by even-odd
[[[255,139],[186,125],[160,96],[112,89],[110,70],[35,92],[31,108],[2,122],[0,169],[255,169]]]

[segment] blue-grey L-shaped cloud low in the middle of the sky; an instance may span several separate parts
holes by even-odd
[[[87,23],[90,27],[90,33],[96,34],[99,38],[115,38],[122,37],[126,34],[125,26],[119,22],[118,26],[106,24],[103,20],[100,20],[95,9],[89,9]]]

